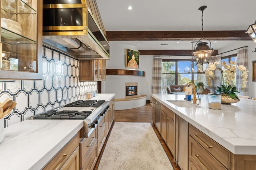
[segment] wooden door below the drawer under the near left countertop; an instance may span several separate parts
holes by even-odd
[[[70,158],[60,168],[61,170],[79,170],[79,147],[72,153]]]

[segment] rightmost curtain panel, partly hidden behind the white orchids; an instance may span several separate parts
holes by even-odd
[[[247,47],[244,47],[238,50],[237,57],[236,57],[236,64],[243,65],[248,69]],[[237,70],[236,71],[236,88],[237,88],[236,90],[240,92],[238,95],[248,96],[248,84],[246,88],[244,88],[243,90],[241,90],[241,84],[242,84],[241,72]]]

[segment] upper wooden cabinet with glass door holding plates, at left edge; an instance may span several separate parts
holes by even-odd
[[[0,5],[0,80],[42,79],[42,0]]]

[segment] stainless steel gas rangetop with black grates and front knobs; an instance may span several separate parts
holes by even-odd
[[[71,119],[71,120],[84,120],[84,137],[90,135],[98,122],[102,119],[103,115],[109,109],[108,101],[105,100],[78,100],[60,106],[50,111],[45,111],[38,115],[34,115],[32,119]]]

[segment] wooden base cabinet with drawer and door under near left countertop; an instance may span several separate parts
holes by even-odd
[[[43,168],[44,170],[60,170],[68,167],[79,169],[79,135],[78,133],[61,149],[54,158]],[[78,151],[77,151],[78,150]],[[78,153],[77,153],[78,152]],[[78,165],[78,166],[77,166]]]

